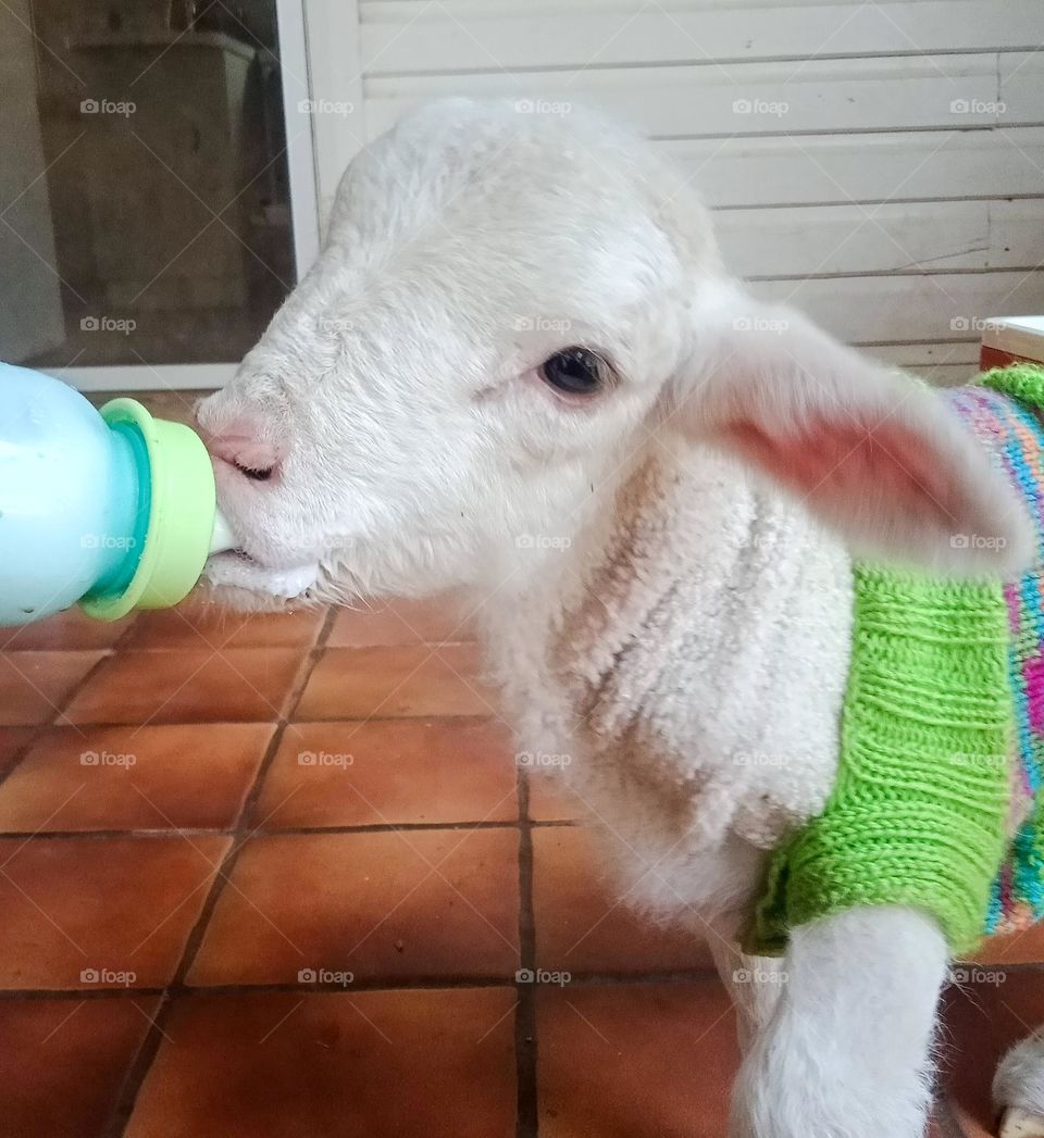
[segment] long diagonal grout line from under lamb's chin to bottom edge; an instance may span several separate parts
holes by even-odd
[[[336,610],[334,608],[327,610],[326,618],[320,626],[315,641],[305,653],[301,667],[297,670],[297,675],[294,677],[294,683],[287,692],[282,704],[282,714],[276,723],[276,729],[272,732],[272,737],[269,740],[269,745],[265,749],[261,764],[258,765],[257,774],[254,776],[254,783],[250,786],[250,790],[248,791],[239,811],[237,825],[231,835],[232,841],[221,860],[221,865],[214,873],[211,888],[204,899],[203,907],[199,910],[199,916],[186,939],[184,950],[181,954],[181,960],[174,972],[174,978],[164,989],[159,999],[159,1005],[156,1009],[155,1019],[153,1020],[145,1039],[142,1040],[141,1046],[138,1048],[134,1058],[128,1067],[123,1083],[120,1088],[120,1094],[116,1096],[113,1113],[102,1130],[105,1138],[117,1138],[117,1136],[124,1132],[128,1123],[130,1122],[131,1115],[134,1111],[134,1104],[138,1100],[138,1095],[140,1094],[141,1087],[148,1077],[157,1053],[159,1052],[159,1044],[164,1036],[164,1029],[173,1007],[172,992],[176,992],[184,987],[184,978],[192,965],[192,960],[196,958],[199,946],[203,943],[206,927],[209,924],[211,915],[217,905],[223,885],[229,880],[229,875],[233,872],[239,853],[246,843],[244,839],[248,836],[248,833],[245,828],[245,824],[250,816],[254,803],[257,800],[257,795],[261,793],[261,783],[268,774],[269,767],[272,765],[276,752],[279,750],[279,744],[286,733],[287,725],[289,724],[290,717],[297,708],[297,704],[301,702],[301,698],[304,694],[304,690],[307,686],[312,671],[322,658],[326,650],[327,637],[330,635],[330,629],[334,627],[335,615]],[[237,839],[240,840],[237,841]]]

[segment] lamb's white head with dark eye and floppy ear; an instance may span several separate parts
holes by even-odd
[[[260,593],[418,594],[539,558],[651,436],[731,448],[874,547],[1026,554],[929,393],[756,304],[684,179],[575,109],[450,100],[363,150],[199,422],[242,543],[211,577]]]

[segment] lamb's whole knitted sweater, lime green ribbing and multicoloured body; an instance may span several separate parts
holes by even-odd
[[[856,905],[926,908],[954,954],[1044,917],[1044,369],[942,396],[1021,492],[1037,564],[1003,585],[855,564],[837,782],[775,852],[749,951]]]

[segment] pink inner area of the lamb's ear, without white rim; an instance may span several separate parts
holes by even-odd
[[[967,517],[967,495],[945,460],[898,423],[872,430],[852,420],[821,419],[778,437],[755,423],[726,430],[740,453],[803,497],[853,509],[872,496],[895,513],[953,530]]]

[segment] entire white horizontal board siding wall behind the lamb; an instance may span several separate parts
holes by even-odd
[[[1042,0],[363,0],[357,33],[338,154],[442,96],[592,104],[756,292],[889,364],[957,382],[977,319],[1044,311]]]

